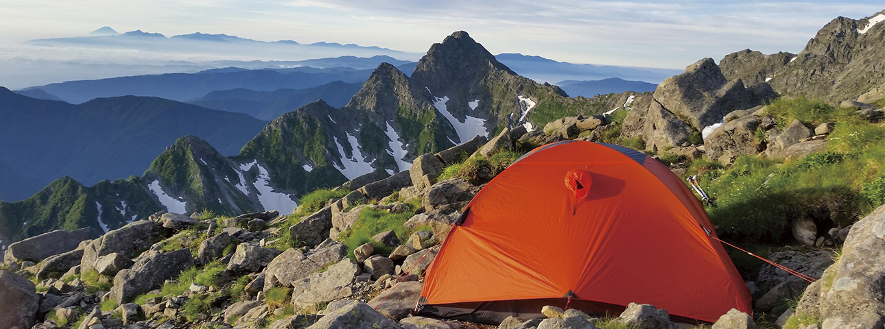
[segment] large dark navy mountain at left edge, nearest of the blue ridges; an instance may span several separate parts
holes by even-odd
[[[194,134],[235,155],[265,121],[156,97],[73,105],[0,88],[0,200],[20,200],[70,176],[92,185],[141,174],[166,146]]]

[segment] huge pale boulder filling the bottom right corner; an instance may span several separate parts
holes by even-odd
[[[822,328],[873,328],[885,324],[885,207],[853,226],[843,254],[805,290],[797,316],[819,316]]]

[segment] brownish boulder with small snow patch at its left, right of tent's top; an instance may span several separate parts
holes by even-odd
[[[707,157],[728,165],[735,162],[737,157],[757,154],[759,143],[755,135],[761,121],[759,117],[750,114],[728,121],[713,130],[704,139]]]

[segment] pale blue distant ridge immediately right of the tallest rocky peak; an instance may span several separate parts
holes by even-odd
[[[643,69],[619,66],[571,64],[558,62],[540,56],[528,56],[519,53],[504,53],[498,54],[495,57],[498,61],[504,63],[504,65],[507,65],[516,73],[538,81],[602,80],[606,78],[620,78],[624,80],[642,80],[652,83],[660,83],[666,78],[682,73],[683,71],[653,69],[654,72],[652,72]]]

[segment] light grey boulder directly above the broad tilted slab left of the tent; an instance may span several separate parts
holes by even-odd
[[[265,270],[264,290],[267,291],[274,285],[292,287],[293,281],[304,279],[312,272],[326,267],[328,264],[338,263],[347,256],[347,247],[343,244],[336,242],[324,242],[323,244],[326,246],[320,245],[308,254],[304,254],[299,249],[288,249],[280,256],[273,258]]]

